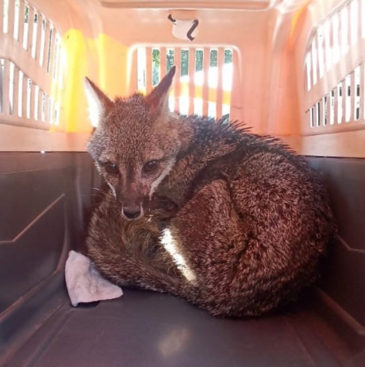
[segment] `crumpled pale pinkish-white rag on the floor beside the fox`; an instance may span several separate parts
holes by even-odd
[[[73,306],[80,302],[118,298],[123,294],[121,288],[100,275],[88,257],[73,250],[66,261],[65,277]]]

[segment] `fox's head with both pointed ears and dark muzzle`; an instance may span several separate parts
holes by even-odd
[[[89,79],[85,82],[91,118],[98,117],[88,150],[128,220],[146,213],[176,161],[180,142],[167,104],[174,73],[175,68],[146,97],[135,94],[114,102]]]

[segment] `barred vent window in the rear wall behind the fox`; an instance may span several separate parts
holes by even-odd
[[[138,91],[149,93],[176,65],[169,109],[182,115],[229,118],[233,58],[231,48],[139,46],[136,86]]]

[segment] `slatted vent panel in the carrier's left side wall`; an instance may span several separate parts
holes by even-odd
[[[31,3],[4,0],[0,6],[0,42],[12,45],[11,55],[1,58],[1,123],[48,129],[61,119],[61,37]]]

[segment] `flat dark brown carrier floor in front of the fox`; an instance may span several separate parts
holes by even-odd
[[[65,299],[8,366],[340,366],[312,323],[306,311],[219,319],[167,294],[126,290],[95,307]]]

